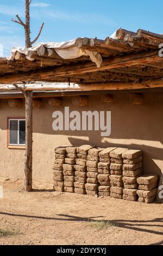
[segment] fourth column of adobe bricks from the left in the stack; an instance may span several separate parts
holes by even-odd
[[[92,148],[88,151],[87,155],[87,179],[86,179],[86,193],[90,196],[98,195],[98,162],[99,162],[99,152],[103,149]]]

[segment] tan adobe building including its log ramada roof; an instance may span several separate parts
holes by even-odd
[[[33,91],[33,180],[52,182],[54,149],[91,144],[143,151],[143,172],[163,172],[163,36],[118,29],[105,40],[79,38],[62,44],[14,48],[0,59],[0,169],[24,177],[24,96],[13,82]],[[39,82],[34,82],[39,81]],[[111,134],[53,130],[53,112],[109,111]],[[106,118],[106,117],[105,117]],[[105,120],[106,121],[106,120]]]

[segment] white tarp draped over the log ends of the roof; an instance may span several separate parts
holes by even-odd
[[[89,56],[92,62],[95,62],[97,68],[100,68],[102,64],[101,54],[98,52],[92,52],[88,50],[83,50],[75,45],[76,39],[67,41],[67,42],[40,42],[31,48],[22,48],[22,47],[13,47],[11,50],[11,56],[8,58],[9,60],[14,60],[16,52],[20,52],[26,55],[26,58],[29,60],[34,60],[33,58],[27,57],[28,51],[37,51],[39,47],[45,46],[47,48],[53,48],[55,52],[63,59],[76,59],[82,56]]]

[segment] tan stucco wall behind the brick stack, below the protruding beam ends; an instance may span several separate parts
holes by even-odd
[[[99,96],[89,96],[86,107],[71,105],[71,97],[64,97],[64,106],[54,108],[43,99],[43,105],[34,109],[33,179],[52,181],[54,148],[61,145],[93,144],[98,147],[127,147],[141,149],[144,154],[144,172],[160,174],[163,170],[163,98],[160,94],[145,95],[143,105],[130,105],[125,94],[115,95],[115,103],[102,103]],[[111,111],[111,136],[102,138],[98,131],[63,131],[52,129],[52,113],[64,111]],[[1,100],[0,108],[0,172],[1,176],[23,179],[24,150],[7,148],[7,118],[23,117],[24,108],[10,108]]]

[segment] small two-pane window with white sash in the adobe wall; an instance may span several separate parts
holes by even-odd
[[[9,119],[9,145],[26,145],[26,120]]]

